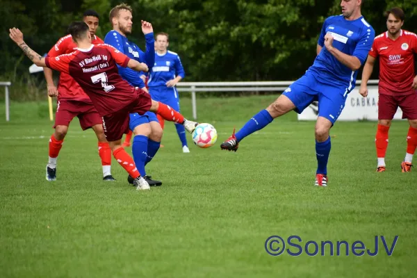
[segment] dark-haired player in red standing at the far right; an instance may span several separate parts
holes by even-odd
[[[407,153],[401,163],[402,172],[411,171],[411,162],[417,147],[417,76],[414,76],[414,54],[417,53],[417,35],[401,29],[404,12],[392,8],[386,13],[388,31],[375,37],[366,65],[363,67],[359,92],[368,95],[366,83],[379,57],[378,129],[375,138],[377,147],[377,172],[385,171],[385,154],[388,147],[388,131],[398,107],[402,118],[408,119]]]

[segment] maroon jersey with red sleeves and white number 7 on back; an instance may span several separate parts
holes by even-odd
[[[120,111],[137,98],[135,90],[119,75],[130,58],[108,44],[92,44],[70,54],[45,58],[47,67],[70,74],[90,97],[101,116]]]

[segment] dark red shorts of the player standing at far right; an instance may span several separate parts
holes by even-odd
[[[393,120],[398,107],[403,119],[417,120],[417,92],[400,96],[379,94],[378,119]]]

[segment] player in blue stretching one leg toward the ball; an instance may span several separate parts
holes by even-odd
[[[224,141],[221,149],[234,151],[243,138],[263,129],[289,111],[302,111],[318,101],[316,122],[316,186],[327,186],[329,131],[354,88],[357,71],[370,51],[375,31],[361,15],[362,0],[342,0],[342,15],[328,17],[318,39],[316,60],[304,76],[292,83],[268,108],[254,115],[238,133]]]

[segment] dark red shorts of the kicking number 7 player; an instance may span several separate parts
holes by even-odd
[[[138,113],[143,115],[149,111],[152,106],[151,95],[144,90],[135,91],[138,97],[128,106],[103,117],[104,135],[108,142],[114,142],[122,139],[123,134],[129,133],[129,114]]]

